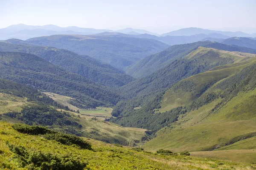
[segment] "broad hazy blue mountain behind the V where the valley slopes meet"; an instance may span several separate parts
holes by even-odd
[[[52,35],[32,38],[26,42],[88,55],[122,69],[169,47],[157,40],[117,35]]]

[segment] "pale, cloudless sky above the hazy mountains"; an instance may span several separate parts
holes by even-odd
[[[0,28],[256,28],[255,9],[256,0],[0,0]]]

